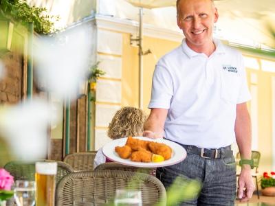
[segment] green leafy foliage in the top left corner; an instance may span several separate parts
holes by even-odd
[[[34,31],[39,34],[54,32],[54,21],[59,20],[59,16],[47,15],[46,8],[30,6],[25,0],[0,0],[0,10],[6,18],[25,26],[34,23]]]

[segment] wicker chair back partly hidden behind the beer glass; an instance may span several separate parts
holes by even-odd
[[[54,160],[39,159],[37,161],[52,162]],[[35,162],[36,161],[32,161],[32,162],[10,161],[5,164],[4,168],[8,172],[10,172],[12,176],[14,176],[14,181],[16,180],[34,181],[35,180]],[[64,163],[62,161],[54,161],[54,162],[57,162],[56,184],[66,174],[74,172],[74,169],[67,163]]]

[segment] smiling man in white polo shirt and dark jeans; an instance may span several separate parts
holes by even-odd
[[[254,191],[251,175],[250,93],[239,52],[212,38],[219,14],[211,0],[177,0],[177,25],[186,37],[155,67],[144,136],[165,137],[186,148],[176,165],[157,169],[168,187],[176,176],[199,179],[199,196],[181,205],[234,205],[235,141],[244,161],[238,197]]]

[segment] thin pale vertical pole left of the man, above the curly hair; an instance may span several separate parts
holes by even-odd
[[[143,109],[143,51],[142,51],[142,38],[143,38],[143,8],[140,8],[140,30],[139,30],[139,44],[138,44],[138,60],[140,71],[140,108]]]

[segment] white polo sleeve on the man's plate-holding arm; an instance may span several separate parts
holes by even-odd
[[[151,101],[148,108],[170,108],[173,78],[164,64],[158,62],[153,73]]]

